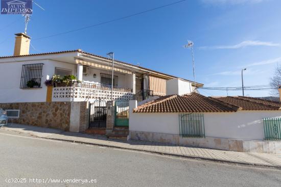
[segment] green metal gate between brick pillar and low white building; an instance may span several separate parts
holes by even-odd
[[[129,126],[129,101],[115,101],[114,126]]]

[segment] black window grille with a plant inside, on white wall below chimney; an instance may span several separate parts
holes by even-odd
[[[43,64],[22,65],[19,88],[41,88]]]

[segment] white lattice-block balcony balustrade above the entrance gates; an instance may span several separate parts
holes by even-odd
[[[111,86],[85,82],[56,83],[53,88],[52,101],[93,101],[111,99]],[[132,89],[113,87],[113,100],[130,100]]]

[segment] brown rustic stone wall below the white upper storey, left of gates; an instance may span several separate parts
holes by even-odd
[[[19,110],[19,118],[8,122],[84,132],[89,124],[87,102],[16,102],[0,103],[4,110]]]

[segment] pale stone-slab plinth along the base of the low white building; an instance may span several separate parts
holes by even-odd
[[[129,139],[227,151],[281,154],[281,141],[240,140],[212,137],[181,138],[179,135],[171,135],[167,133],[132,130],[129,131]]]

